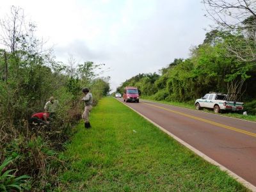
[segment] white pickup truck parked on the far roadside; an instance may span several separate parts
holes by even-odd
[[[195,101],[196,109],[210,108],[215,113],[220,111],[243,111],[243,102],[228,100],[228,95],[222,93],[207,93],[201,99]]]

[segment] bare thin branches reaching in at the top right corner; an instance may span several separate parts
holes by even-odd
[[[227,56],[238,61],[256,61],[256,1],[203,0],[207,14],[216,22],[217,29],[230,31],[233,39],[225,44]],[[236,38],[240,36],[239,38]]]

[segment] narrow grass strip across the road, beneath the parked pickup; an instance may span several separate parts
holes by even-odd
[[[172,105],[172,106],[179,106],[179,107],[182,107],[182,108],[195,109],[195,105],[192,102],[188,102],[188,103],[185,103],[185,102],[170,102],[170,101],[165,101],[165,100],[153,100],[153,99],[150,99],[150,98],[147,98],[147,97],[141,97],[141,99],[151,100],[151,101],[159,102],[159,103],[163,103],[163,104],[169,104],[169,105]],[[207,113],[214,113],[214,111],[211,110],[211,109],[202,109],[202,111],[205,111]],[[218,113],[218,115],[230,116],[230,117],[233,117],[233,118],[240,118],[240,119],[243,119],[243,120],[249,120],[249,121],[252,121],[252,122],[256,122],[256,115],[242,115],[242,114],[239,114],[239,113],[232,113],[232,112]]]

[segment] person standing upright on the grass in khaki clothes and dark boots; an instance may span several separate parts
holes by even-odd
[[[89,92],[88,88],[83,88],[82,92],[84,93],[83,101],[84,101],[84,113],[82,115],[82,118],[84,120],[84,127],[90,128],[91,124],[89,122],[89,113],[92,110],[92,93]]]

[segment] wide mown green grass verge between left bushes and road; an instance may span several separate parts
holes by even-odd
[[[100,100],[63,154],[56,191],[246,191],[113,98]]]

